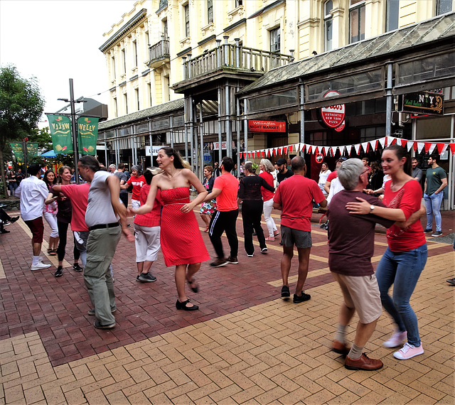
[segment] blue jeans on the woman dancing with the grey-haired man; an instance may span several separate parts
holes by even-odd
[[[392,252],[387,247],[376,269],[382,306],[395,320],[400,332],[407,330],[407,341],[414,346],[420,345],[420,336],[410,298],[427,263],[427,254],[427,244],[408,252]],[[388,294],[392,284],[393,299]]]

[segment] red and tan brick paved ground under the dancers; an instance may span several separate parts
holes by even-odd
[[[444,231],[454,232],[453,212],[443,218]],[[239,220],[240,237],[241,227]],[[437,238],[428,239],[429,260],[412,296],[424,355],[400,362],[382,347],[392,331],[384,314],[365,350],[385,367],[353,372],[329,350],[341,293],[316,223],[306,285],[312,298],[298,305],[279,299],[278,242],[250,259],[240,238],[238,265],[203,264],[200,293],[188,294],[200,311],[188,313],[176,311],[173,270],[161,255],[152,267],[158,281],[135,281],[134,244],[122,238],[113,261],[114,330],[93,328],[71,255],[58,279],[55,257],[45,259],[50,269],[31,272],[30,232],[22,220],[7,229],[0,236],[0,404],[454,403],[454,288],[445,280],[455,276],[455,254]],[[376,234],[375,264],[386,246]],[[291,274],[292,291],[295,266]],[[354,328],[348,333],[352,340]]]

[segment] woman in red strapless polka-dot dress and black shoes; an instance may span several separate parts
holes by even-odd
[[[156,156],[156,163],[163,173],[151,180],[146,203],[134,214],[145,214],[154,205],[157,190],[161,190],[163,211],[161,212],[161,252],[166,266],[176,266],[177,309],[194,311],[199,307],[188,300],[185,281],[191,290],[198,292],[194,275],[200,269],[202,261],[210,259],[193,208],[200,205],[207,196],[202,183],[188,168],[183,159],[173,148],[161,148]],[[190,187],[193,185],[198,196],[190,201]]]

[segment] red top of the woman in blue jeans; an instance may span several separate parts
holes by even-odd
[[[395,193],[390,190],[391,181],[384,185],[384,202],[389,208],[400,208],[405,213],[406,220],[413,212],[420,208],[422,201],[422,187],[417,180],[409,180],[400,190]],[[392,225],[387,229],[387,243],[392,252],[407,252],[417,249],[426,243],[424,230],[420,221],[414,222],[406,229]]]

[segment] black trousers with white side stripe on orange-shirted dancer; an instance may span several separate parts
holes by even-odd
[[[210,236],[210,241],[213,244],[216,255],[220,259],[225,257],[223,244],[221,243],[221,235],[223,232],[226,232],[226,237],[228,237],[230,257],[237,257],[239,252],[239,241],[235,230],[235,222],[237,222],[238,215],[238,209],[224,212],[215,211],[215,214],[212,215],[212,219],[210,220],[210,225],[208,227],[208,235]]]

